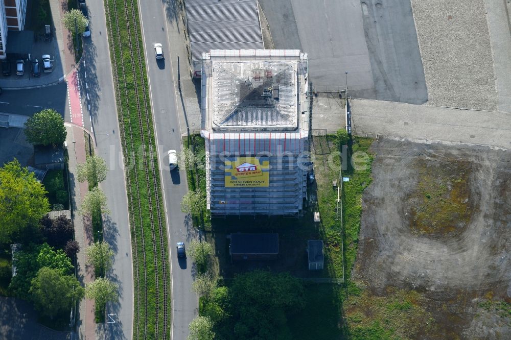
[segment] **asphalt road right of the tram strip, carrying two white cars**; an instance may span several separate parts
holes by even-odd
[[[187,214],[181,212],[182,197],[188,191],[184,170],[169,170],[167,151],[182,148],[181,131],[178,115],[179,92],[174,83],[172,63],[169,51],[168,26],[165,9],[161,2],[139,2],[144,49],[151,91],[151,102],[158,159],[162,178],[162,188],[165,195],[165,209],[169,230],[169,250],[172,268],[172,338],[185,339],[188,335],[188,325],[197,314],[198,300],[191,292],[194,270],[187,259],[179,259],[176,254],[176,242],[188,241],[193,235],[193,227]],[[163,44],[163,60],[154,57],[154,43]],[[175,75],[177,76],[177,75]]]

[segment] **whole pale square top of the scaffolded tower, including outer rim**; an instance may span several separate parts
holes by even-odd
[[[208,130],[299,128],[299,114],[306,110],[307,54],[297,50],[212,50],[203,55],[202,73]]]

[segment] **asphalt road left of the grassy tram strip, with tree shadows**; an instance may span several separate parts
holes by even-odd
[[[119,284],[120,293],[118,303],[107,305],[106,312],[110,317],[104,325],[97,326],[96,334],[97,338],[131,339],[133,334],[131,236],[105,8],[102,1],[89,1],[87,6],[91,37],[83,39],[84,55],[79,68],[84,123],[87,128],[91,126],[94,129],[97,152],[110,168],[106,180],[101,183],[111,211],[103,221],[103,236],[115,252],[113,269],[109,277]],[[87,93],[89,100],[86,100]]]

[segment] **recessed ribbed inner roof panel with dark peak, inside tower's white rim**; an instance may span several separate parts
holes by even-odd
[[[297,127],[296,61],[213,61],[213,125]]]

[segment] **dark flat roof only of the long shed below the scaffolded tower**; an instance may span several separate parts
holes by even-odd
[[[278,234],[231,234],[231,254],[278,254]]]

